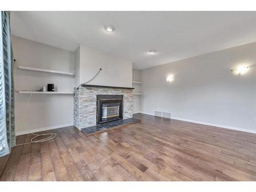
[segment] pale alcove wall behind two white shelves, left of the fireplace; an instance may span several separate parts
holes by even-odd
[[[25,71],[18,66],[74,72],[74,53],[31,40],[12,36],[14,58],[14,86],[16,90],[38,90],[54,83],[58,91],[73,91],[74,77],[69,75]],[[16,133],[45,127],[73,124],[73,95],[32,95],[15,93]],[[22,123],[24,116],[25,127]]]

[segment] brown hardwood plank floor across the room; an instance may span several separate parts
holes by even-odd
[[[140,123],[15,146],[1,181],[256,181],[256,134],[136,114]],[[44,132],[45,133],[45,132]],[[32,135],[17,137],[17,144]]]

